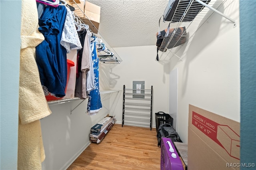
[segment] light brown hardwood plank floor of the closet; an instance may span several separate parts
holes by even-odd
[[[160,170],[156,129],[115,124],[100,144],[91,143],[67,170]]]

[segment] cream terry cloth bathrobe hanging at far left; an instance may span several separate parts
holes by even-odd
[[[38,27],[36,1],[22,0],[18,170],[42,169],[45,153],[40,119],[52,113],[44,96],[35,60],[35,47],[44,41]]]

